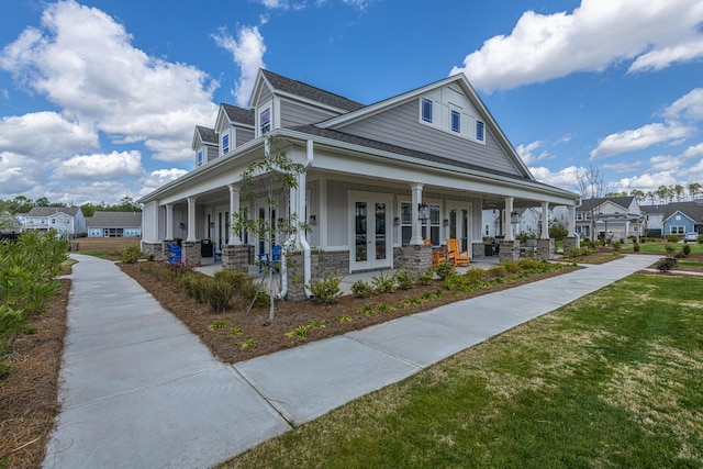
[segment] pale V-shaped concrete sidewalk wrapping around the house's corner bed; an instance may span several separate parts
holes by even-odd
[[[207,468],[650,266],[627,256],[223,365],[110,261],[75,256],[46,468]]]

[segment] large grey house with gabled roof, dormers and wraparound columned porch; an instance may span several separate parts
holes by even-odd
[[[241,197],[243,170],[269,149],[306,168],[270,213],[263,194]],[[538,208],[546,226],[550,206],[567,205],[573,219],[579,200],[535,180],[464,75],[365,105],[261,69],[249,109],[221,104],[213,127],[196,127],[193,150],[194,170],[138,200],[144,249],[164,258],[165,243],[181,238],[185,258],[199,263],[198,245],[210,239],[225,268],[241,268],[270,247],[232,233],[232,213],[271,222],[295,214],[312,230],[276,241],[291,246],[283,265],[299,280],[283,289],[292,298],[325,273],[424,270],[447,238],[483,256],[483,210],[510,221],[516,209]],[[502,226],[501,257],[516,258],[512,224]],[[554,243],[540,242],[549,257]]]

